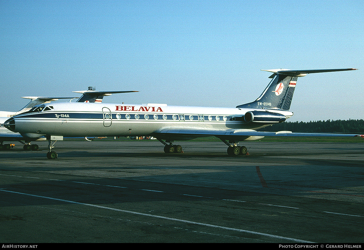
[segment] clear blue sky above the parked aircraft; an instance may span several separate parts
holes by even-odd
[[[289,121],[364,118],[361,1],[1,1],[0,110],[21,96],[138,90],[112,103],[235,107],[261,69],[357,71],[299,78]]]

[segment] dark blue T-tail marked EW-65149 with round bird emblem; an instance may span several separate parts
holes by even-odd
[[[289,110],[292,102],[294,88],[298,77],[304,77],[310,73],[323,73],[334,71],[347,71],[356,69],[328,69],[328,70],[286,70],[274,69],[263,70],[273,74],[269,78],[273,78],[266,89],[254,102],[237,106],[236,108],[252,108],[252,109],[280,109]]]

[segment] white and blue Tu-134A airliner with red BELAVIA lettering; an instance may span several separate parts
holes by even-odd
[[[52,140],[87,136],[154,136],[165,145],[166,153],[180,153],[175,140],[215,136],[227,146],[230,156],[246,155],[239,141],[258,140],[264,136],[359,136],[356,134],[261,132],[257,129],[284,122],[289,111],[298,77],[310,73],[347,71],[265,70],[273,73],[263,93],[254,102],[236,108],[169,106],[166,104],[55,103],[37,105],[29,112],[8,119],[5,126],[26,137],[46,136],[48,159],[56,159]]]

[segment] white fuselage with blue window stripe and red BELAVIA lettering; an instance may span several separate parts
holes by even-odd
[[[14,131],[29,137],[146,136],[167,128],[255,130],[272,124],[245,122],[244,114],[257,110],[246,108],[167,106],[156,103],[54,103],[47,107],[41,112],[13,117]],[[293,115],[283,110],[262,110],[282,114],[286,118]]]

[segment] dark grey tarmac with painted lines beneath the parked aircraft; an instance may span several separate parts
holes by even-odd
[[[0,242],[364,242],[364,143],[58,141],[0,151]]]

